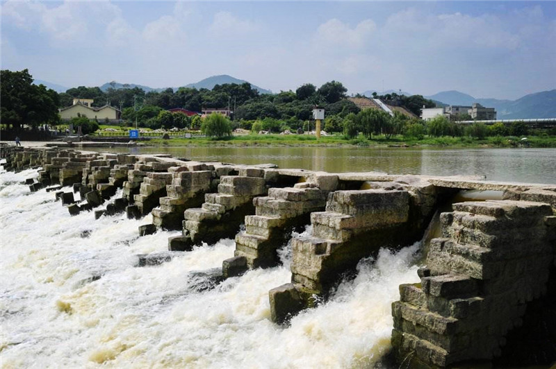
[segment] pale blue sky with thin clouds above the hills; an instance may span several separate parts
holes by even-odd
[[[66,87],[179,87],[218,74],[272,92],[556,88],[555,1],[1,1],[1,69]]]

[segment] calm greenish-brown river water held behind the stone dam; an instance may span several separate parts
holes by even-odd
[[[486,180],[556,184],[554,148],[151,147],[120,153],[168,153],[191,160],[273,163],[314,171],[484,175]],[[106,151],[106,149],[98,149]]]

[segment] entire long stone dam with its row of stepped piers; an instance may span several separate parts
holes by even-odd
[[[152,214],[138,234],[181,230],[167,253],[138,255],[138,266],[235,239],[235,256],[213,273],[218,283],[277,265],[291,242],[291,283],[268,293],[281,325],[326,300],[361,259],[420,242],[420,283],[400,285],[392,304],[395,367],[556,362],[556,185],[59,148],[3,146],[1,157],[6,170],[41,168],[30,190],[46,187],[70,214]],[[462,190],[500,198],[454,200]],[[291,237],[306,225],[310,235]]]

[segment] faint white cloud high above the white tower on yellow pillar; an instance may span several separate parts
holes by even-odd
[[[334,18],[317,28],[316,41],[325,46],[350,46],[361,48],[375,32],[377,26],[371,19],[365,19],[354,28]]]

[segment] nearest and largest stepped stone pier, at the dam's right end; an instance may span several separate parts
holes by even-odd
[[[442,238],[430,244],[421,282],[400,286],[392,305],[395,357],[410,368],[500,356],[528,302],[546,293],[550,274],[555,284],[556,216],[548,203],[489,200],[453,210],[441,214]]]

